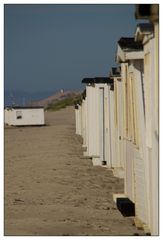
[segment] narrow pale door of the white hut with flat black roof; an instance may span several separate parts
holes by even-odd
[[[105,160],[104,149],[104,88],[99,88],[99,113],[100,113],[100,160]]]

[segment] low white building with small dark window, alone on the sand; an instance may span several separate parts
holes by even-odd
[[[5,124],[10,126],[44,125],[44,108],[6,107]]]

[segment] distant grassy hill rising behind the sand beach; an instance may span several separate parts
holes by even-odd
[[[66,105],[73,105],[74,102],[81,97],[80,91],[59,91],[54,95],[47,98],[32,101],[28,106],[43,106],[49,110],[57,110],[59,108],[65,107]]]

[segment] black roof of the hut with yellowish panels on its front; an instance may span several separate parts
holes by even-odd
[[[139,51],[143,49],[143,45],[139,42],[135,42],[134,38],[122,37],[118,41],[118,44],[123,50]]]

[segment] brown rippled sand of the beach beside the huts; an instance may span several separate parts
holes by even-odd
[[[5,235],[143,234],[112,200],[123,181],[84,159],[74,109],[5,129]]]

